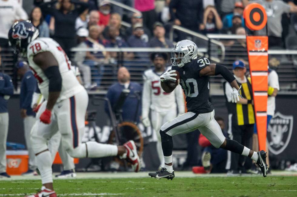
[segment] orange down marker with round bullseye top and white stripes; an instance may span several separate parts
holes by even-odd
[[[267,22],[266,11],[258,3],[252,3],[246,6],[243,16],[246,27],[251,30],[261,30]],[[268,37],[246,36],[246,43],[252,79],[259,150],[265,151],[268,97]]]

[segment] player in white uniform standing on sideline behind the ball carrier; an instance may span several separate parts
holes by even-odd
[[[160,159],[160,167],[164,167],[164,156],[161,146],[160,128],[165,122],[174,119],[178,113],[185,113],[185,99],[182,87],[178,86],[171,93],[166,93],[161,88],[160,76],[168,71],[166,68],[167,54],[154,52],[151,60],[155,66],[153,69],[146,70],[143,74],[143,91],[142,91],[142,123],[155,130],[158,141],[157,151]],[[151,116],[149,118],[149,112]]]

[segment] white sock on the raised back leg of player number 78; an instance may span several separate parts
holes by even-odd
[[[108,156],[118,155],[118,146],[116,145],[100,144],[95,141],[89,141],[86,144],[88,147],[88,157],[96,158],[96,157],[108,157]]]

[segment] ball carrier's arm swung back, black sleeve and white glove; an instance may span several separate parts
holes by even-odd
[[[205,68],[201,69],[201,71],[199,72],[199,76],[215,76],[215,75],[222,75],[222,77],[230,83],[231,87],[233,88],[233,91],[231,93],[232,103],[236,103],[236,102],[239,102],[242,104],[248,103],[248,100],[246,99],[240,100],[239,97],[243,99],[242,96],[239,94],[241,86],[240,87],[238,86],[237,81],[235,80],[235,77],[225,66],[221,64],[209,64]]]

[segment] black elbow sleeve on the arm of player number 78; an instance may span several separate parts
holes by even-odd
[[[62,89],[62,77],[58,66],[51,66],[45,69],[45,76],[49,80],[48,91],[60,92]]]

